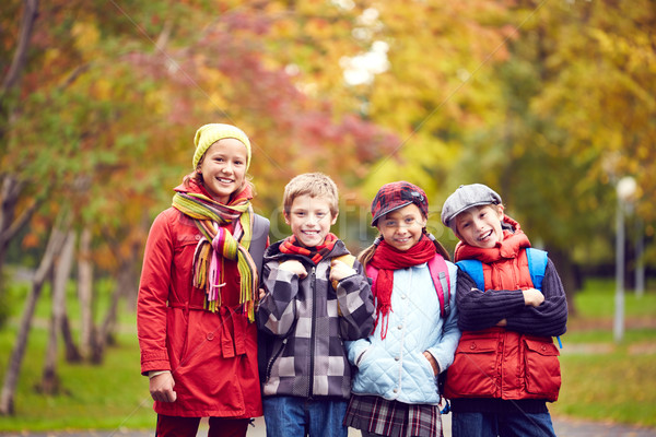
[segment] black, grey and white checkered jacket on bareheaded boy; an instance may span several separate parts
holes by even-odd
[[[302,398],[351,394],[351,367],[343,342],[366,338],[374,326],[374,303],[362,264],[358,274],[341,280],[335,290],[329,280],[330,259],[348,253],[339,240],[317,265],[308,258],[280,252],[280,244],[265,253],[266,296],[259,304],[260,359],[263,395]],[[296,259],[307,270],[300,280],[278,267]]]

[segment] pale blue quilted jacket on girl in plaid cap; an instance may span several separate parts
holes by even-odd
[[[394,272],[387,336],[382,321],[367,339],[347,342],[349,361],[358,367],[354,394],[378,395],[405,403],[437,404],[437,378],[423,355],[429,351],[444,371],[452,365],[460,331],[457,322],[458,269],[446,262],[450,283],[450,312],[440,316],[440,300],[427,264]]]

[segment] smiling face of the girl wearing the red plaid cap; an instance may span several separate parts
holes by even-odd
[[[410,203],[378,218],[376,227],[385,243],[406,251],[419,241],[425,225],[426,218],[414,203]]]

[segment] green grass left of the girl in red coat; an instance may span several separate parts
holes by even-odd
[[[139,374],[139,351],[133,334],[120,334],[119,345],[107,351],[103,366],[70,365],[60,361],[61,392],[43,395],[40,382],[46,343],[37,329],[31,341],[19,381],[14,417],[0,416],[0,430],[118,429],[152,427],[154,413],[148,380]],[[0,334],[0,349],[11,351],[13,336]],[[2,374],[7,365],[1,363]]]

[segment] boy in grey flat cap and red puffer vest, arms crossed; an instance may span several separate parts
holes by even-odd
[[[567,304],[553,263],[529,249],[484,185],[460,186],[442,223],[460,240],[454,258],[471,282],[456,295],[462,336],[445,386],[453,436],[555,436],[547,409],[561,385],[552,336],[566,330]]]

